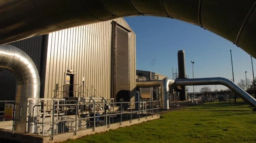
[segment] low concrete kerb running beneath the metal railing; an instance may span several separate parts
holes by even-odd
[[[147,122],[147,121],[155,120],[159,118],[160,118],[160,115],[158,114],[154,116],[143,117],[143,118],[140,118],[140,120],[133,119],[131,122],[130,120],[123,121],[122,125],[120,125],[119,123],[113,123],[113,124],[110,124],[109,128],[107,126],[98,126],[95,128],[95,131],[92,131],[91,128],[77,130],[77,135],[74,135],[74,132],[59,133],[54,135],[53,140],[51,139],[51,136],[39,136],[36,134],[19,133],[19,132],[15,132],[14,135],[12,135],[11,130],[0,129],[0,138],[14,140],[22,143],[57,143],[57,142],[62,142],[68,139],[74,140],[77,138],[81,138],[83,136],[92,135],[95,133],[102,133],[109,130],[115,130],[120,127],[131,126],[134,124],[143,123],[143,122]]]

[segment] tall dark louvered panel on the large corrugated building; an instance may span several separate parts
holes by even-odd
[[[129,33],[116,28],[116,100],[130,100]]]

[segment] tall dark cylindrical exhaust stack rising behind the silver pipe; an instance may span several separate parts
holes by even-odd
[[[178,79],[186,79],[186,67],[185,67],[185,51],[179,50],[178,51],[178,69],[179,69],[179,76]],[[179,100],[187,100],[187,92],[186,86],[181,86],[181,90],[179,90]]]

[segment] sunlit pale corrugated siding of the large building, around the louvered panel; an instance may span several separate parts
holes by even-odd
[[[123,27],[131,30],[123,18],[115,19]],[[74,70],[74,84],[92,85],[97,92],[110,98],[111,74],[111,21],[69,28],[49,33],[46,61],[45,98],[53,98],[56,84],[64,85],[68,69]],[[130,62],[132,85],[135,94],[135,34],[130,33]],[[133,70],[133,71],[132,71]],[[77,90],[77,87],[76,89]]]

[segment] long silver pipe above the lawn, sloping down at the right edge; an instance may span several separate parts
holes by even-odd
[[[256,100],[250,96],[245,90],[236,85],[233,81],[223,77],[197,78],[197,79],[177,79],[172,86],[193,86],[193,85],[217,85],[227,86],[233,92],[238,94],[250,106],[256,107]]]

